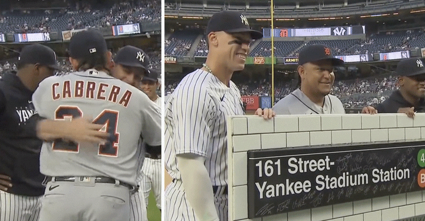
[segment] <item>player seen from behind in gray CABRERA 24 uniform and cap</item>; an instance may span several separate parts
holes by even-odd
[[[143,158],[138,140],[143,136],[149,145],[160,146],[159,108],[137,88],[107,74],[111,53],[99,32],[75,34],[69,53],[78,72],[41,82],[32,97],[35,110],[51,120],[93,117],[112,141],[43,143],[40,172],[49,179],[40,220],[130,220],[130,195]]]

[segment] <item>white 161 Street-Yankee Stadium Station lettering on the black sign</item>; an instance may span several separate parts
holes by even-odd
[[[260,160],[256,163],[258,168],[259,177],[271,177],[275,173],[276,175],[281,175],[281,159],[266,160],[264,163]],[[291,157],[287,160],[287,171],[289,174],[286,174],[286,177],[291,175],[316,172],[316,171],[326,171],[331,170],[332,165],[335,163],[330,161],[329,157],[326,155],[323,159],[311,159],[303,160],[300,158]],[[317,173],[316,173],[317,174]],[[371,175],[371,176],[369,176]],[[371,180],[369,180],[369,177]],[[410,178],[409,169],[397,169],[397,167],[391,168],[390,170],[382,169],[373,169],[371,174],[360,173],[352,174],[350,172],[342,172],[339,176],[329,176],[329,175],[317,175],[314,179],[315,186],[312,186],[312,181],[310,180],[296,180],[294,177],[293,180],[287,178],[283,182],[278,184],[267,184],[267,181],[256,182],[255,186],[259,193],[260,199],[278,197],[284,195],[300,194],[302,192],[308,193],[311,191],[312,187],[317,191],[330,190],[336,188],[344,187],[353,187],[358,185],[369,184],[369,181],[373,183],[389,182],[396,180],[404,180]]]

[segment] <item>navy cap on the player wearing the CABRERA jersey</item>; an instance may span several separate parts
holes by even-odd
[[[73,59],[90,58],[93,54],[107,50],[105,38],[93,29],[76,33],[69,42],[69,56]]]

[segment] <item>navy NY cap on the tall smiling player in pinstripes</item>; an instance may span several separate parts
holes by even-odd
[[[263,33],[252,30],[246,17],[237,11],[222,11],[211,16],[206,26],[206,34],[215,31],[227,33],[249,32],[252,39],[263,37]]]

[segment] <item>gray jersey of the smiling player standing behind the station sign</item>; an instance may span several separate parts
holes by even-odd
[[[276,115],[345,114],[344,105],[337,97],[326,95],[323,107],[315,104],[300,88],[279,100],[274,106]]]

